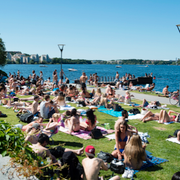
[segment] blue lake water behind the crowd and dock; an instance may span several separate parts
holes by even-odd
[[[41,70],[44,75],[44,79],[50,77],[52,79],[52,72],[54,69],[57,69],[58,73],[60,72],[61,65],[47,65],[47,67],[40,67],[39,65],[26,65],[26,64],[8,64],[2,68],[6,73],[13,73],[17,70],[20,71],[20,74],[27,77],[32,73],[32,70],[36,71],[36,74],[39,75]],[[76,72],[68,71],[68,68],[77,69]],[[174,91],[179,88],[180,83],[180,66],[168,66],[168,65],[149,65],[145,67],[143,65],[122,65],[122,68],[116,68],[116,65],[96,65],[96,64],[63,64],[63,70],[66,76],[73,82],[74,79],[79,78],[83,71],[89,76],[97,72],[98,76],[115,76],[116,71],[119,72],[120,76],[123,76],[125,73],[134,74],[136,77],[144,76],[145,73],[153,73],[153,76],[156,76],[156,80],[153,80],[156,83],[155,90],[162,91],[163,87],[169,85],[169,90]]]

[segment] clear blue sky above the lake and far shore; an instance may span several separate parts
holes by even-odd
[[[0,0],[7,51],[72,59],[180,58],[179,0]]]

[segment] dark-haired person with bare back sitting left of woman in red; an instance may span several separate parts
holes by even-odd
[[[65,120],[65,126],[69,128],[69,134],[72,132],[79,132],[80,121],[75,108],[71,110],[71,118]]]

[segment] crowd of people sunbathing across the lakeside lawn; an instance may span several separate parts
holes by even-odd
[[[25,141],[29,141],[32,144],[31,147],[35,153],[42,158],[45,158],[46,155],[46,157],[51,159],[52,163],[57,163],[59,166],[62,164],[59,164],[58,158],[68,156],[70,159],[74,158],[77,161],[77,167],[78,160],[76,159],[76,155],[83,154],[84,147],[77,150],[63,148],[61,146],[48,149],[46,146],[49,144],[49,137],[55,133],[60,126],[67,128],[69,134],[79,132],[81,129],[92,131],[96,127],[97,117],[92,109],[88,109],[86,111],[86,121],[81,122],[80,115],[76,108],[67,110],[64,113],[60,113],[60,108],[65,107],[67,105],[66,101],[68,100],[77,102],[83,106],[104,106],[109,109],[114,108],[116,104],[115,101],[131,104],[131,97],[133,97],[133,95],[130,94],[129,90],[126,90],[125,96],[116,94],[115,89],[110,85],[107,85],[105,93],[101,92],[101,88],[88,92],[86,87],[87,82],[96,86],[98,85],[98,76],[96,73],[90,75],[89,79],[85,72],[82,73],[80,77],[80,90],[74,85],[67,85],[69,83],[67,77],[66,83],[63,83],[64,76],[65,74],[62,70],[60,72],[60,80],[58,81],[57,71],[55,70],[53,72],[53,82],[51,82],[50,78],[44,80],[42,71],[40,71],[38,76],[33,70],[32,75],[29,75],[27,78],[21,76],[19,71],[13,75],[9,73],[7,83],[0,84],[0,100],[4,105],[13,107],[15,112],[28,112],[33,114],[33,122],[27,125],[17,124],[15,127],[27,133]],[[122,80],[124,82],[134,77],[134,75],[126,74]],[[119,81],[118,72],[116,73],[115,82],[116,84],[122,83]],[[146,90],[151,91],[154,86],[155,84],[153,83],[152,86]],[[167,88],[168,87],[163,90],[165,96],[168,94]],[[139,90],[144,89],[140,87]],[[28,97],[18,98],[16,95],[19,95],[18,97],[28,95]],[[139,107],[148,106],[161,106],[161,104],[158,101],[148,103],[146,100],[143,100],[143,104]],[[118,160],[124,159],[126,167],[140,169],[143,161],[146,160],[146,144],[142,144],[137,128],[129,125],[126,121],[127,118],[128,112],[123,110],[122,117],[116,121],[114,126],[115,148],[111,154]],[[158,120],[159,123],[164,123],[172,120],[178,121],[179,118],[179,113],[171,110],[168,113],[165,110],[161,110],[159,114],[148,111],[141,121]],[[49,122],[44,123],[44,119],[49,119]],[[180,131],[177,131],[176,136],[180,141]],[[95,180],[99,178],[98,174],[100,169],[108,170],[106,163],[99,158],[95,158],[94,146],[87,146],[85,148],[85,154],[86,158],[82,161],[83,171],[77,170],[69,174],[68,172],[64,172],[64,176],[68,174],[71,179]],[[120,177],[114,176],[110,179],[116,180],[120,179]]]

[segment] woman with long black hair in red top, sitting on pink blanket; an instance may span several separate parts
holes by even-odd
[[[81,126],[81,129],[83,129],[83,130],[91,131],[96,126],[97,118],[96,118],[96,115],[94,115],[92,109],[88,109],[86,111],[86,116],[87,116],[86,121],[85,122],[81,122],[80,126]]]

